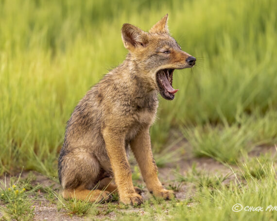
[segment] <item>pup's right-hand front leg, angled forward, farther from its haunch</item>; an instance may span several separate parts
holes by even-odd
[[[149,128],[138,133],[131,142],[131,149],[137,159],[139,169],[150,193],[166,200],[174,198],[172,190],[165,189],[157,176],[157,166],[151,150]]]

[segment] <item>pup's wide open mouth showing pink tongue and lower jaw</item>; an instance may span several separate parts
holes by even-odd
[[[161,69],[156,73],[159,92],[164,99],[173,100],[178,89],[172,87],[174,69]]]

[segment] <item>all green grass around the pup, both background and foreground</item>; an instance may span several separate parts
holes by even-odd
[[[225,174],[195,168],[186,176],[176,173],[170,188],[190,183],[193,197],[169,203],[151,198],[132,214],[121,204],[60,206],[92,219],[114,212],[118,220],[276,220],[273,211],[231,210],[236,203],[277,203],[275,158],[248,156],[255,146],[277,144],[275,0],[0,0],[0,175],[24,166],[55,179],[74,106],[125,58],[122,24],[147,31],[166,13],[171,33],[197,65],[176,70],[173,85],[180,90],[172,102],[160,99],[151,128],[156,163],[184,159],[185,148],[176,146],[186,140],[193,156],[230,164],[238,179],[225,185]],[[182,134],[172,135],[172,129]],[[133,179],[142,187],[138,167]],[[35,188],[27,184],[1,183],[0,219],[33,218]],[[59,198],[47,199],[57,204]]]

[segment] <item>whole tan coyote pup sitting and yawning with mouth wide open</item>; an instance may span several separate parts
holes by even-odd
[[[164,16],[149,32],[123,24],[126,59],[75,107],[58,161],[64,198],[100,202],[117,191],[124,204],[141,204],[141,190],[132,183],[129,148],[150,193],[167,200],[174,197],[157,177],[149,128],[156,117],[158,92],[173,100],[178,91],[172,86],[174,69],[191,68],[196,59],[169,34],[167,19]]]

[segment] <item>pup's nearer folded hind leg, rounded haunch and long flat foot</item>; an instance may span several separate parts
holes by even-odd
[[[64,198],[89,199],[100,202],[107,199],[108,191],[97,188],[100,164],[86,147],[74,148],[59,159],[59,177]]]

